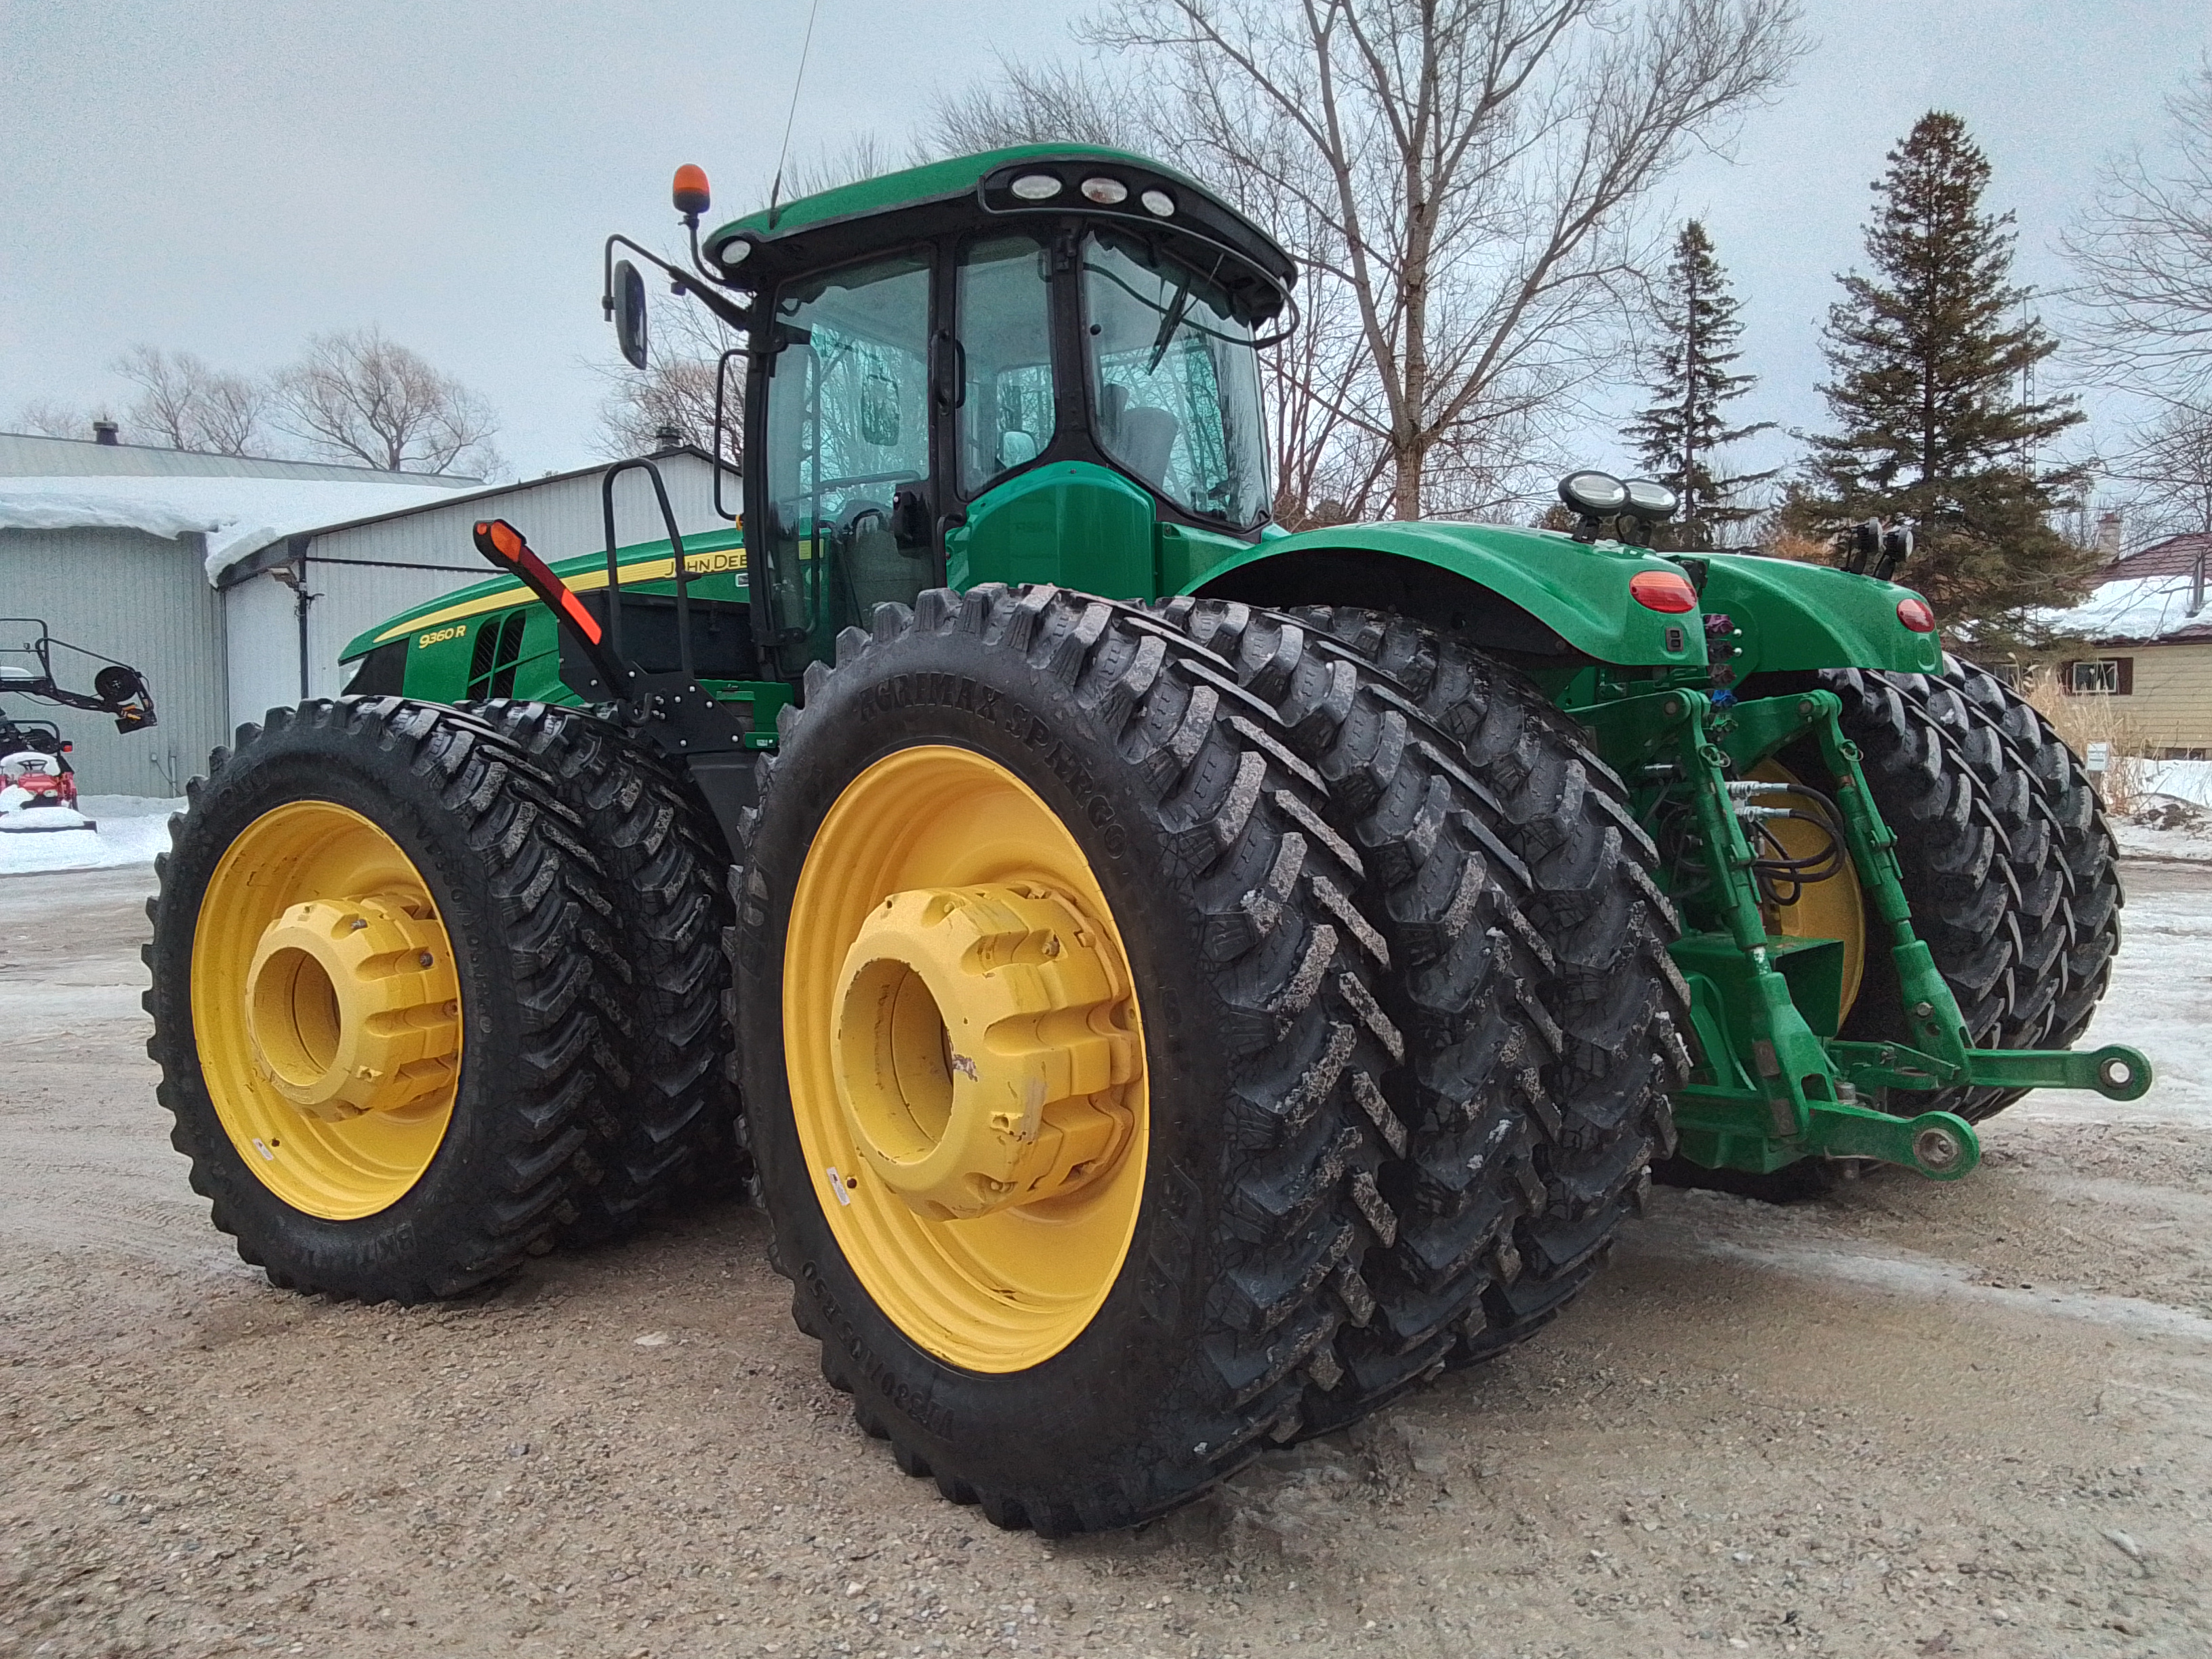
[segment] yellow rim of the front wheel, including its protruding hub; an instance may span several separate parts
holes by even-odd
[[[398,1203],[460,1082],[453,947],[414,860],[330,801],[246,825],[199,902],[192,1031],[261,1186],[325,1221]]]

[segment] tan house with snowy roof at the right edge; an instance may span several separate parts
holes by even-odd
[[[2152,759],[2212,757],[2212,535],[2170,535],[2108,564],[2077,606],[2046,622],[2086,639],[2057,664],[2059,690],[2115,697]]]

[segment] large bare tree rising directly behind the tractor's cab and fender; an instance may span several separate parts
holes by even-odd
[[[1349,361],[1285,372],[1400,518],[1511,493],[1615,358],[1637,208],[1803,51],[1794,0],[1128,0],[1086,38],[1157,64],[1179,155],[1301,257],[1310,314],[1340,290]]]

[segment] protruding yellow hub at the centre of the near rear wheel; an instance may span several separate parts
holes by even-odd
[[[1144,1068],[1099,929],[1031,883],[876,905],[845,951],[832,1055],[867,1168],[940,1221],[1102,1177],[1128,1146]]]

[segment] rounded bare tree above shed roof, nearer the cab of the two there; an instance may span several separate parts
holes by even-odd
[[[274,387],[276,425],[319,456],[394,473],[489,476],[500,467],[491,407],[383,330],[316,334]]]

